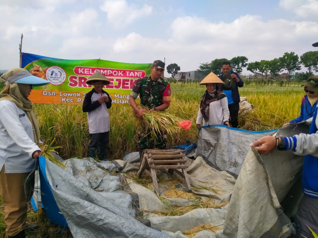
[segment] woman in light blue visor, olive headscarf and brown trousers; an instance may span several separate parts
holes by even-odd
[[[27,202],[34,186],[35,159],[41,155],[38,121],[28,99],[33,86],[49,83],[21,68],[0,77],[0,194],[9,237],[25,237]]]

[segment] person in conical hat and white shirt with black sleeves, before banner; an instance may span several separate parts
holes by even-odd
[[[112,100],[103,87],[109,83],[110,81],[97,70],[86,80],[86,84],[93,85],[94,88],[85,95],[83,102],[83,112],[87,112],[91,136],[88,145],[89,156],[95,159],[97,151],[98,159],[103,161],[108,161],[105,158],[105,148],[109,142],[108,109],[112,106]]]

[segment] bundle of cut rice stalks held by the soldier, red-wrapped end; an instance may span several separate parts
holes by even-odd
[[[163,112],[163,111],[153,111],[150,112],[148,108],[142,107],[146,112],[143,117],[137,117],[137,128],[140,132],[147,132],[152,139],[156,138],[157,134],[163,135],[174,135],[180,131],[180,128],[190,129],[190,121],[183,121],[179,117]]]

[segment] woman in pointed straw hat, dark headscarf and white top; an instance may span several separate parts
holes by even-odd
[[[201,128],[208,125],[226,125],[230,126],[230,111],[227,105],[225,94],[218,90],[217,83],[224,83],[213,72],[206,76],[199,84],[206,86],[206,91],[201,97],[200,107],[197,116],[196,126]]]

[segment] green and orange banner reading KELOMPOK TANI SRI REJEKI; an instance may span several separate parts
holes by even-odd
[[[101,59],[65,60],[22,53],[22,67],[50,83],[35,87],[30,99],[35,103],[81,104],[92,86],[87,77],[99,70],[110,80],[104,86],[114,104],[128,104],[135,81],[150,74],[151,63],[120,63]]]

